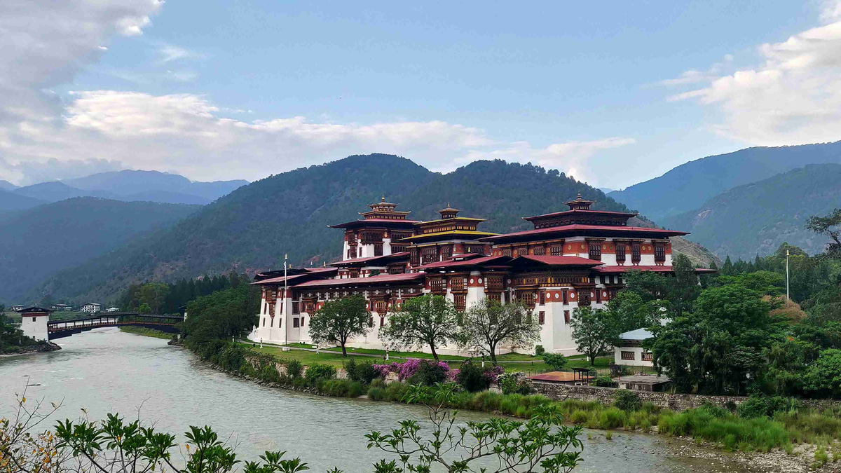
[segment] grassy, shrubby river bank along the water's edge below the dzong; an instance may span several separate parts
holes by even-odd
[[[219,356],[226,360],[237,358],[232,353],[220,353]],[[402,393],[406,387],[402,383],[391,382],[385,385],[375,381],[370,387],[361,387],[358,386],[360,383],[350,380],[321,380],[314,383],[300,377],[289,382],[287,378],[280,377],[285,376],[284,373],[276,371],[282,370],[283,367],[278,367],[278,364],[272,362],[270,358],[266,355],[258,355],[248,360],[246,364],[241,364],[240,369],[225,369],[224,366],[214,363],[210,365],[228,375],[273,389],[339,398],[364,397],[369,401],[387,401],[393,405],[402,402]],[[274,371],[273,374],[272,371]],[[360,396],[366,392],[367,395]],[[452,407],[458,409],[459,412],[473,411],[501,416],[529,417],[536,403],[552,401],[539,395],[503,396],[499,393],[484,391],[474,395],[462,393],[456,402],[457,405]],[[621,434],[652,435],[664,439],[667,443],[677,440],[687,442],[688,446],[682,447],[683,449],[694,446],[697,451],[685,450],[686,452],[696,451],[697,455],[692,458],[733,461],[745,468],[760,471],[841,470],[838,468],[841,465],[833,461],[838,460],[838,454],[833,454],[835,448],[823,447],[821,453],[828,452],[828,454],[825,459],[822,459],[821,453],[816,455],[820,447],[815,444],[790,444],[789,433],[785,431],[782,424],[765,417],[751,420],[738,419],[739,422],[734,423],[732,414],[706,407],[688,412],[669,412],[656,407],[643,406],[639,411],[625,412],[616,407],[604,407],[595,401],[570,400],[556,402],[556,404],[572,423],[584,425],[587,428],[606,429],[606,432],[601,435],[607,441]],[[650,410],[652,408],[655,410]],[[693,438],[683,433],[685,430],[693,430],[693,428],[687,428],[690,424],[694,425],[696,432],[701,432],[701,437]],[[743,431],[739,432],[739,429]],[[705,437],[720,440],[708,441],[704,439]],[[780,444],[784,446],[779,446]],[[835,444],[837,442],[832,443],[832,445]]]

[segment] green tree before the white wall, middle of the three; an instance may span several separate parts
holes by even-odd
[[[379,329],[379,336],[396,347],[429,346],[438,359],[436,347],[455,340],[458,311],[441,295],[422,295],[407,300],[403,310],[389,316],[389,323]]]

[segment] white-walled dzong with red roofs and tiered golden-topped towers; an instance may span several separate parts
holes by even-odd
[[[378,327],[389,313],[431,293],[459,311],[483,298],[520,301],[540,324],[538,344],[552,353],[578,353],[569,326],[575,308],[605,307],[628,271],[673,273],[669,237],[687,234],[628,226],[637,214],[590,210],[592,204],[579,194],[566,203],[569,210],[523,217],[532,230],[498,235],[480,229],[484,219],[450,205],[436,220],[414,221],[383,198],[357,220],[331,226],[344,231],[341,261],[288,269],[285,277],[283,269],[257,274],[261,312],[249,338],[309,343],[309,318],[325,302],[363,295],[372,328],[348,345],[384,348]],[[458,353],[455,347],[437,351]]]

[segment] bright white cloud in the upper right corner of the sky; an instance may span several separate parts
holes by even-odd
[[[822,4],[828,22],[759,45],[759,66],[701,77],[706,86],[669,100],[696,99],[717,107],[723,120],[710,125],[721,136],[752,145],[780,146],[841,140],[841,2]],[[690,83],[695,71],[666,85]]]

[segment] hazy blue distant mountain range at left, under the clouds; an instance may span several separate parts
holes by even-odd
[[[135,170],[97,173],[24,187],[0,181],[0,212],[25,210],[74,197],[206,205],[246,183],[248,181],[244,180],[192,182],[178,174]]]

